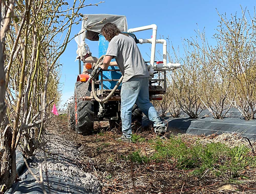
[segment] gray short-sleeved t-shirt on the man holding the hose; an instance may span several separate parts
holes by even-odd
[[[132,77],[149,77],[147,65],[140,53],[140,50],[130,36],[118,34],[109,42],[106,55],[113,56],[118,67],[124,76],[123,82]]]

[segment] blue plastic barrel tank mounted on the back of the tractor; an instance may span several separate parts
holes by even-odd
[[[127,32],[123,32],[127,33]],[[134,34],[132,33],[127,33],[131,37],[135,37]],[[109,41],[105,40],[105,37],[101,34],[99,34],[99,57],[102,55],[105,55],[107,52],[109,46]],[[111,61],[115,61],[115,59],[112,59]],[[108,69],[119,69],[119,67],[116,66],[109,66]],[[122,74],[120,71],[103,71],[103,90],[110,90],[113,89],[117,83],[117,81],[104,81],[104,79],[120,79]],[[99,80],[101,79],[101,76],[99,75]],[[120,90],[122,86],[122,83],[118,87]],[[100,83],[100,89],[101,89],[101,83]]]

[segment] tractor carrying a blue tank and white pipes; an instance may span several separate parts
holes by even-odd
[[[105,23],[115,23],[122,33],[132,37],[137,44],[152,44],[150,61],[145,61],[151,76],[149,81],[150,100],[162,100],[161,94],[166,92],[166,71],[180,68],[180,64],[167,63],[166,40],[156,39],[157,26],[155,24],[127,30],[125,16],[91,14],[84,15],[83,18],[82,29],[79,32],[81,36],[76,41],[78,46],[84,46],[86,39],[99,41],[99,60],[83,61],[91,68],[87,68],[90,75],[81,74],[81,60],[79,60],[79,75],[74,88],[74,101],[68,104],[67,112],[70,127],[77,133],[89,135],[93,131],[94,121],[109,121],[112,127],[121,122],[121,72],[116,66],[109,66],[107,70],[99,68],[109,44],[100,34],[100,30]],[[152,30],[152,38],[137,39],[134,32],[143,30]],[[155,61],[157,43],[163,44],[162,61]],[[112,61],[115,61],[115,59],[112,59]],[[93,67],[90,63],[97,64]],[[140,108],[135,104],[132,111],[132,122],[138,121],[138,123],[141,123],[142,114]]]

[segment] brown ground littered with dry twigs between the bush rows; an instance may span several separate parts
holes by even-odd
[[[55,126],[54,135],[75,142],[72,161],[99,179],[102,193],[256,193],[254,167],[247,166],[242,178],[239,176],[231,180],[228,173],[218,177],[209,169],[196,176],[192,173],[195,169],[177,167],[175,158],[161,159],[161,162],[147,160],[147,156],[155,152],[154,141],[150,140],[157,140],[152,129],[134,126],[134,134],[138,137],[134,140],[136,142],[125,143],[115,141],[121,130],[110,130],[108,123],[95,124],[94,130],[98,132],[90,136],[79,135],[69,129],[65,115],[55,119],[52,125]],[[198,139],[201,143],[225,142],[231,147],[248,144],[231,136],[182,136],[187,146],[193,146]]]

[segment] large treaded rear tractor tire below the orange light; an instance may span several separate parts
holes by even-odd
[[[76,82],[74,90],[75,131],[79,134],[90,135],[93,132],[94,111],[93,102],[80,98],[91,95],[91,85],[88,82]]]

